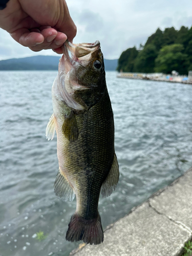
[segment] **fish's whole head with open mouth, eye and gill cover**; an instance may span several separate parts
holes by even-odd
[[[69,108],[87,111],[101,98],[105,86],[100,43],[75,45],[66,41],[62,51],[56,94]]]

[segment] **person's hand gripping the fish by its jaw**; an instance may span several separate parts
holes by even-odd
[[[76,35],[76,26],[65,0],[9,0],[0,10],[0,27],[19,44],[38,52],[61,46]]]

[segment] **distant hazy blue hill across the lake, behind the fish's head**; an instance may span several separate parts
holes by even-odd
[[[0,70],[58,70],[60,56],[32,56],[0,61]],[[117,59],[104,59],[106,71],[115,71]]]

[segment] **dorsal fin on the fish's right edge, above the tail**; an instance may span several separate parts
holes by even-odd
[[[115,190],[118,181],[119,181],[119,165],[118,165],[116,154],[114,153],[112,167],[101,187],[102,197],[110,196],[113,190]]]

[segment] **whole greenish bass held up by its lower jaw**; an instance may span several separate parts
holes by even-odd
[[[76,196],[66,233],[70,242],[103,242],[98,212],[100,193],[108,197],[119,181],[114,147],[114,116],[105,81],[100,42],[62,46],[52,86],[53,114],[46,136],[57,134],[59,170],[54,191],[63,201]]]

